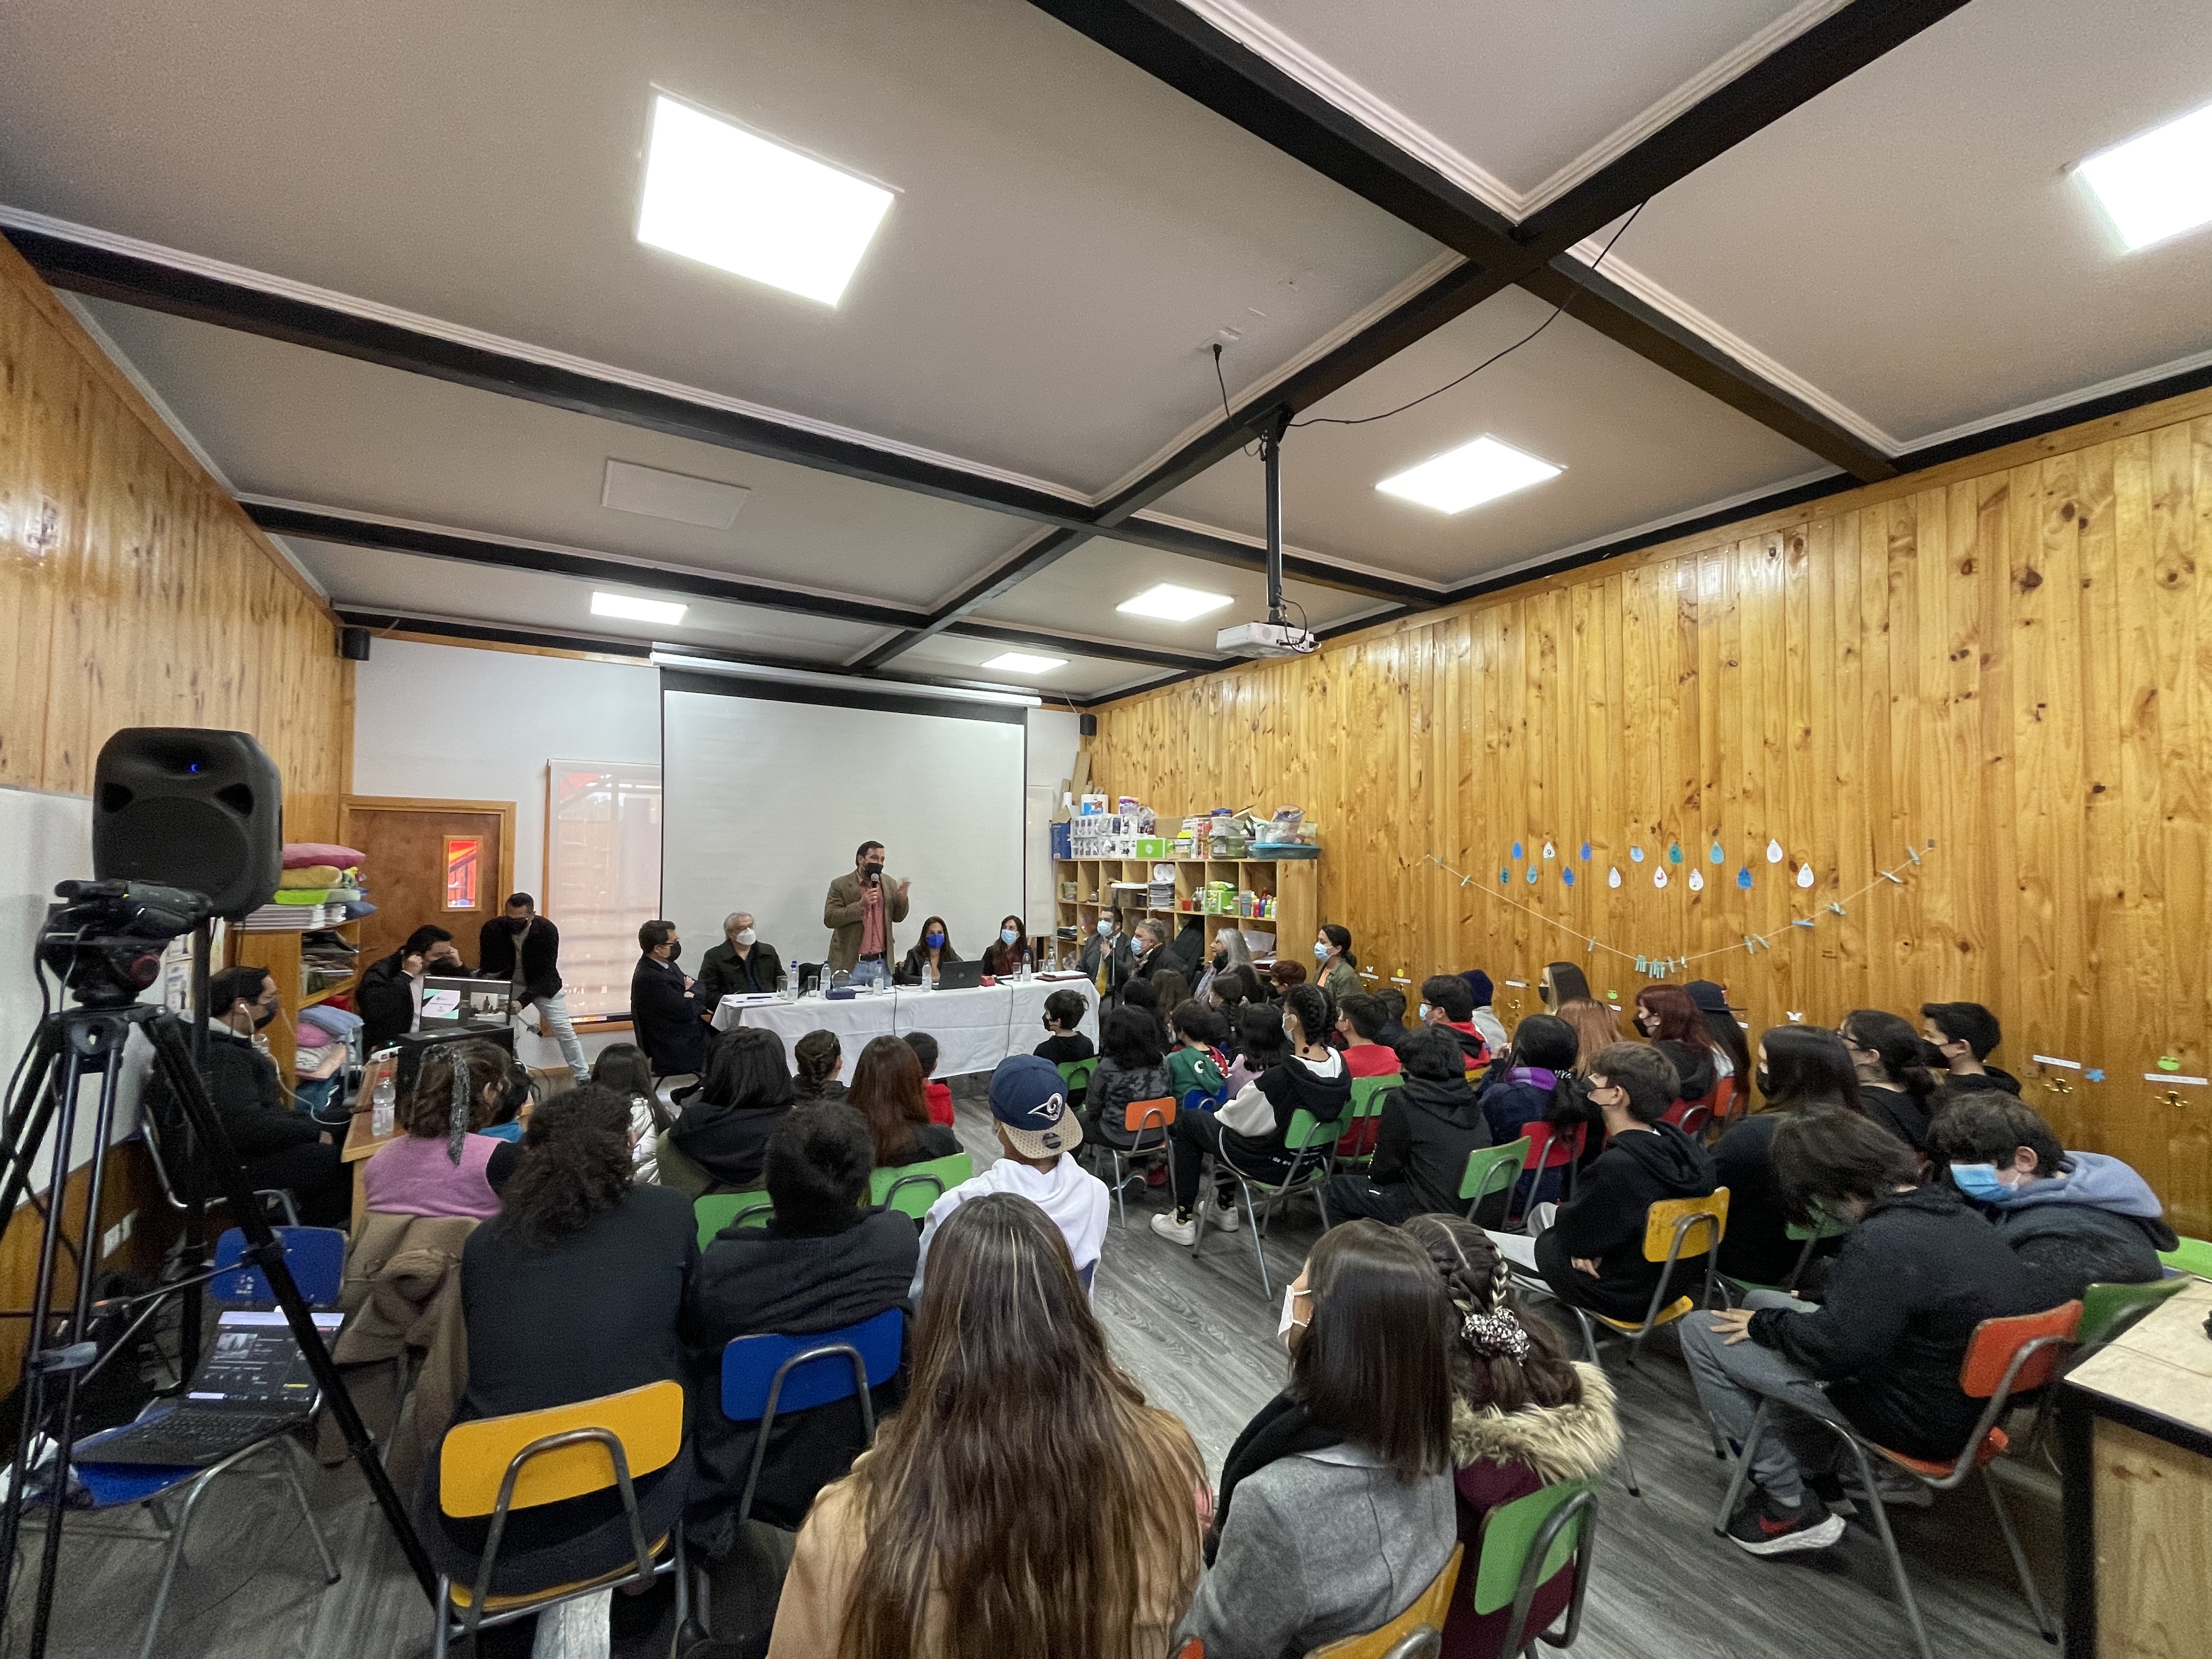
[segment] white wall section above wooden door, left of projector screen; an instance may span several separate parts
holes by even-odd
[[[661,761],[646,664],[378,639],[354,670],[354,794],[513,801],[509,891],[544,891],[546,761]]]

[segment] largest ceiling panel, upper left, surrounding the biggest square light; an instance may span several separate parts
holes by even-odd
[[[1422,234],[1022,0],[0,11],[0,199],[1097,491]],[[891,186],[836,310],[635,239],[655,86]]]

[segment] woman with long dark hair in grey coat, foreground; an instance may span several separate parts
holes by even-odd
[[[1177,1632],[1206,1659],[1374,1630],[1451,1559],[1453,1323],[1409,1237],[1380,1221],[1321,1234],[1283,1292],[1290,1387],[1221,1464],[1210,1566]]]

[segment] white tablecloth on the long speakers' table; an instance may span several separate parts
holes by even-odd
[[[783,1057],[810,1031],[834,1031],[845,1048],[845,1079],[869,1037],[902,1037],[927,1031],[938,1040],[938,1077],[991,1071],[1006,1055],[1026,1055],[1051,1033],[1044,1029],[1044,998],[1053,991],[1075,991],[1084,1000],[1082,1033],[1099,1040],[1099,993],[1091,980],[1004,980],[973,991],[863,991],[847,1002],[803,998],[799,1002],[748,1002],[723,998],[714,1009],[714,1029],[737,1024],[774,1031],[783,1037]]]

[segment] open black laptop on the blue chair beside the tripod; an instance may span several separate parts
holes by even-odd
[[[330,1343],[345,1314],[316,1314]],[[215,1345],[181,1400],[153,1400],[122,1429],[84,1440],[77,1462],[206,1469],[232,1451],[307,1422],[319,1405],[314,1371],[283,1312],[228,1307],[215,1321]]]

